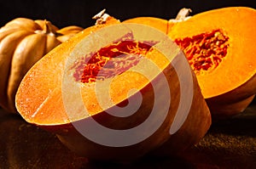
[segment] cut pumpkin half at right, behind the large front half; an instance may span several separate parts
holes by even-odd
[[[200,51],[198,50],[192,57],[193,54],[189,54],[192,48],[184,47],[186,41],[190,41],[191,46],[202,49],[202,46],[195,45],[192,41],[200,36],[209,37],[211,32],[216,31],[215,37],[211,38],[212,41],[214,38],[218,39],[219,43],[216,42],[214,45],[223,42],[222,48],[215,48],[226,53],[217,56],[219,63],[207,64],[206,59],[203,61],[196,58],[201,61],[199,67],[195,66],[195,60],[189,60],[190,65],[194,66],[202,94],[207,100],[213,118],[223,119],[245,110],[256,93],[256,43],[253,39],[256,32],[256,10],[247,7],[218,8],[195,14],[188,20],[170,22],[172,26],[169,26],[168,35],[184,49],[187,58],[208,56],[196,55]],[[223,58],[220,59],[220,56]]]

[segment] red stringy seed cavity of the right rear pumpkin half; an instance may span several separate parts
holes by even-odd
[[[229,37],[219,29],[193,37],[177,38],[175,42],[183,49],[197,75],[216,69],[230,46]]]

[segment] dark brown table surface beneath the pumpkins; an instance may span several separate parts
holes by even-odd
[[[241,115],[212,124],[201,142],[182,155],[129,165],[91,163],[54,134],[0,111],[0,168],[256,168],[255,103]]]

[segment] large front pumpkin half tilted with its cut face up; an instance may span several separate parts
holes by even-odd
[[[112,17],[33,65],[20,83],[16,107],[69,149],[103,161],[133,161],[169,139],[176,143],[170,149],[185,149],[211,124],[177,45],[152,27]]]

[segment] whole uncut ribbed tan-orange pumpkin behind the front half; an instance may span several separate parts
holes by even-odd
[[[15,93],[27,70],[44,54],[83,28],[71,25],[59,30],[48,20],[16,18],[0,29],[0,106],[16,112]]]

